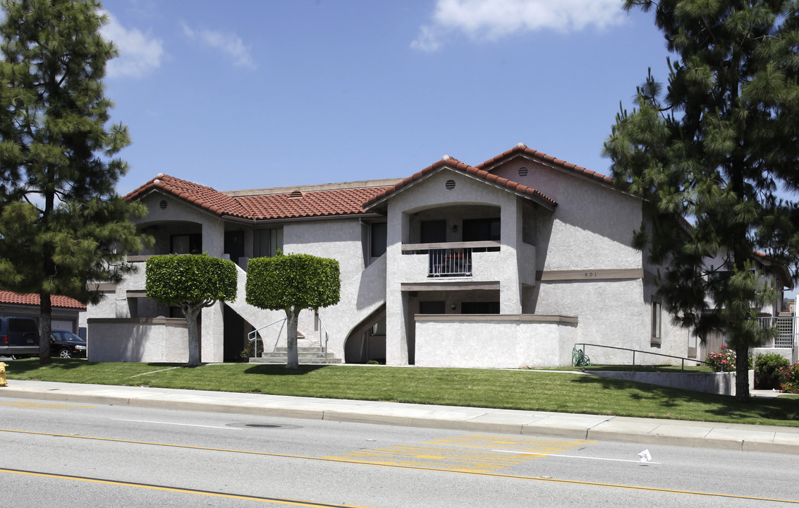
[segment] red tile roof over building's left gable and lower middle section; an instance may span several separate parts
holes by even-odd
[[[265,220],[365,214],[361,203],[384,189],[385,186],[305,192],[295,190],[283,194],[232,197],[211,187],[159,174],[127,194],[125,199],[133,200],[152,190],[161,190],[219,216]]]

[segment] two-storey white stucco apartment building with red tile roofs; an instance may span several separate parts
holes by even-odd
[[[284,313],[244,302],[248,258],[277,250],[340,262],[340,303],[303,311],[299,331],[300,346],[344,362],[562,366],[582,342],[698,354],[655,296],[658,267],[630,245],[642,202],[523,144],[477,166],[444,156],[402,180],[219,192],[160,174],[127,198],[148,207],[137,226],[156,242],[129,256],[137,274],[100,286],[90,360],[186,360],[185,319],[145,295],[152,254],[239,266],[236,301],[202,311],[203,362],[237,358],[253,330],[266,352],[284,344]]]

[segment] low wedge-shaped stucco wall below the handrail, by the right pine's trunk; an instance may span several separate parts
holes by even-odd
[[[734,372],[610,372],[592,370],[587,374],[598,378],[623,379],[646,382],[650,385],[670,386],[706,394],[735,394]],[[754,388],[754,370],[749,370],[749,387]]]

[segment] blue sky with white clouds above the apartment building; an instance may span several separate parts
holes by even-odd
[[[126,194],[406,177],[518,142],[609,174],[602,142],[666,50],[621,0],[105,0]]]

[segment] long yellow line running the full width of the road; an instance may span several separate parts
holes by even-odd
[[[430,466],[403,466],[400,464],[392,464],[388,463],[376,463],[376,462],[368,462],[368,461],[359,461],[359,460],[352,460],[347,458],[333,458],[333,457],[307,457],[304,455],[292,455],[292,454],[272,454],[268,452],[262,451],[251,451],[251,450],[227,450],[225,448],[209,448],[207,446],[189,446],[189,445],[176,445],[171,443],[163,443],[163,442],[147,442],[147,441],[133,441],[129,439],[116,439],[116,438],[93,438],[90,436],[76,436],[70,434],[52,434],[48,432],[34,432],[31,430],[11,430],[11,429],[0,429],[0,432],[12,432],[16,434],[33,434],[33,435],[42,435],[42,436],[54,436],[57,438],[73,438],[73,439],[89,439],[94,441],[107,441],[107,442],[124,442],[130,444],[139,444],[139,445],[152,445],[152,446],[169,446],[173,448],[186,448],[191,450],[209,450],[209,451],[224,451],[228,453],[236,453],[236,454],[252,454],[252,455],[264,455],[268,457],[282,457],[282,458],[300,458],[304,460],[315,460],[315,461],[322,461],[322,462],[341,462],[345,464],[361,464],[361,465],[368,465],[368,466],[382,466],[382,467],[393,467],[397,469],[408,469],[408,470],[422,470],[422,471],[439,471],[443,473],[457,473],[457,474],[471,474],[473,476],[483,476],[488,478],[508,478],[514,480],[531,480],[536,482],[550,482],[550,483],[563,483],[567,485],[582,485],[582,486],[598,486],[598,487],[610,487],[614,489],[624,489],[624,490],[642,490],[645,492],[660,492],[665,494],[689,494],[689,495],[697,495],[697,496],[710,496],[716,498],[733,498],[733,499],[749,499],[752,501],[773,501],[773,502],[788,502],[792,504],[799,504],[799,501],[793,499],[777,499],[777,498],[758,498],[754,496],[744,496],[738,494],[720,494],[714,492],[698,492],[694,490],[677,490],[677,489],[662,489],[659,487],[646,487],[646,486],[633,486],[633,485],[621,485],[621,484],[614,484],[614,483],[602,483],[602,482],[582,482],[579,480],[562,480],[559,478],[540,478],[535,476],[522,476],[518,474],[501,474],[501,473],[491,473],[491,472],[482,472],[482,471],[470,471],[470,470],[451,470],[451,469],[439,469]]]

